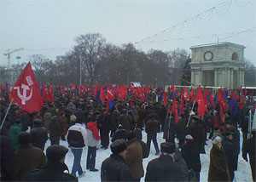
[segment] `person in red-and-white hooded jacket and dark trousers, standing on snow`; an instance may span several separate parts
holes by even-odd
[[[96,146],[99,145],[101,137],[99,135],[99,130],[96,125],[96,118],[91,117],[90,119],[91,121],[87,122],[86,124],[86,136],[88,142],[86,169],[90,169],[90,171],[96,172],[98,171],[98,169],[95,168]]]

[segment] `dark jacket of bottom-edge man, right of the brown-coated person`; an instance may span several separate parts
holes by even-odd
[[[186,166],[172,156],[160,156],[148,162],[145,181],[188,181],[188,175]]]

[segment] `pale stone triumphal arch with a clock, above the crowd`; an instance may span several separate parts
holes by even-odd
[[[244,85],[244,48],[236,43],[191,47],[191,84],[224,88]]]

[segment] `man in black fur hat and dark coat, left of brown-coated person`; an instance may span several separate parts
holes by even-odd
[[[125,139],[115,140],[110,148],[113,154],[102,162],[102,181],[132,181],[129,167],[125,164]]]

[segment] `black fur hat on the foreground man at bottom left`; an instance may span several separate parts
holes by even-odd
[[[49,162],[59,162],[66,156],[67,151],[67,147],[63,145],[50,145],[46,150],[46,156]]]

